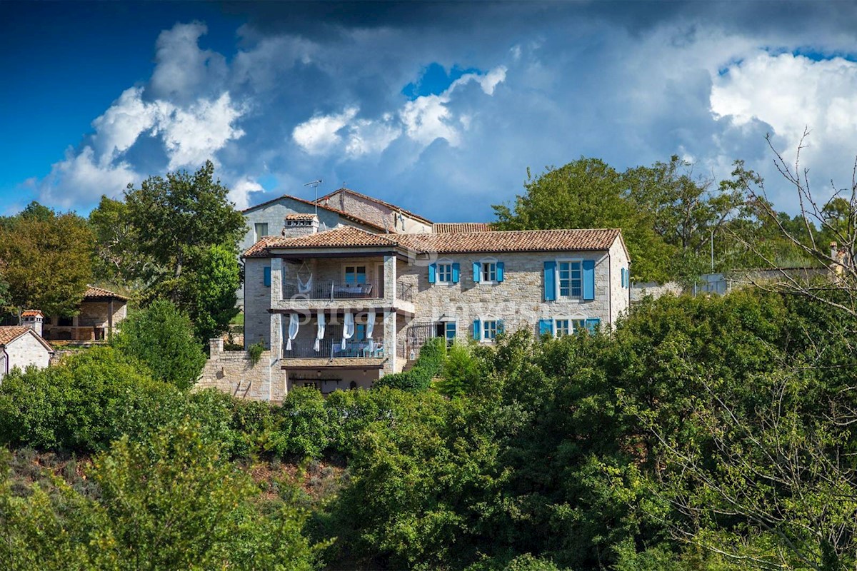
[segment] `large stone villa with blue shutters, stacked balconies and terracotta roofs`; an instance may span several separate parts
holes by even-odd
[[[429,337],[562,336],[611,327],[629,305],[619,229],[432,223],[345,188],[317,205],[283,196],[244,214],[244,342],[267,349],[243,389],[249,398],[368,388],[402,371]],[[221,350],[215,385],[226,374]]]

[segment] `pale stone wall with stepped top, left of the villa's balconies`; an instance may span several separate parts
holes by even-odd
[[[283,401],[285,374],[270,351],[252,366],[247,351],[224,351],[222,339],[212,339],[209,345],[211,354],[194,390],[214,388],[250,401]]]

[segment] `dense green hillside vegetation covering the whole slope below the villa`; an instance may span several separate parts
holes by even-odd
[[[75,354],[0,385],[0,568],[854,568],[855,325],[665,297],[282,407]]]

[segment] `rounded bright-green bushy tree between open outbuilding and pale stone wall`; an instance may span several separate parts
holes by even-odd
[[[168,300],[153,301],[129,315],[111,343],[141,360],[154,378],[179,389],[193,386],[206,362],[190,319]]]

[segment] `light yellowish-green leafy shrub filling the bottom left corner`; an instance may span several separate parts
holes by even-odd
[[[261,495],[195,423],[113,443],[87,471],[93,494],[52,478],[15,495],[8,466],[0,451],[3,569],[315,568],[306,514]]]

